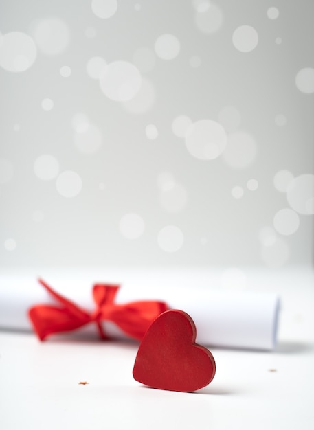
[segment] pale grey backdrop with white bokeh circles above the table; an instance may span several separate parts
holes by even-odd
[[[313,256],[312,0],[0,0],[1,267]]]

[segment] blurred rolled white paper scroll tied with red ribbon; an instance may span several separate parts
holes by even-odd
[[[75,273],[74,273],[75,277]],[[92,311],[95,308],[87,279],[43,278],[55,291]],[[100,282],[97,280],[97,282]],[[103,281],[103,283],[110,283]],[[113,282],[112,282],[113,283]],[[276,346],[280,299],[276,293],[221,291],[217,288],[144,286],[136,279],[122,283],[115,303],[156,299],[188,313],[197,327],[197,342],[223,348],[272,350]],[[32,330],[27,310],[36,304],[55,304],[34,277],[0,276],[0,329]],[[89,324],[95,330],[95,324]],[[115,324],[104,322],[109,336],[126,338]],[[86,328],[77,332],[86,333]]]

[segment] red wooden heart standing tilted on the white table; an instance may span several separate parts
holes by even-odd
[[[195,343],[194,321],[182,310],[166,310],[148,328],[139,346],[133,377],[153,388],[193,392],[214,378],[208,349]]]

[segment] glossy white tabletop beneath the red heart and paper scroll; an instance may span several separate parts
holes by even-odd
[[[273,352],[210,348],[216,376],[194,393],[137,383],[138,344],[131,341],[51,337],[41,343],[31,333],[0,332],[0,429],[313,430],[313,271],[247,273],[247,288],[282,297],[278,346]]]

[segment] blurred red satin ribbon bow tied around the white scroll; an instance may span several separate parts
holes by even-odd
[[[115,304],[113,303],[115,295],[120,287],[95,284],[93,286],[93,299],[96,303],[96,310],[89,313],[56,293],[43,280],[38,281],[60,304],[60,306],[39,304],[28,311],[34,330],[42,341],[53,333],[76,330],[76,328],[91,322],[96,323],[100,337],[108,339],[102,328],[102,320],[112,321],[128,336],[141,340],[153,320],[160,313],[168,310],[165,302],[153,300]]]

